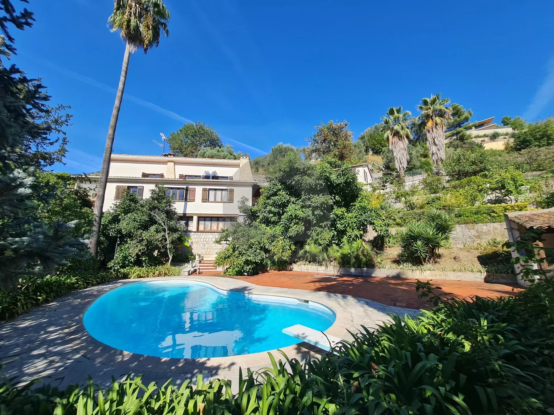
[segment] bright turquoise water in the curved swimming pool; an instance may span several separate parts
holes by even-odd
[[[317,303],[245,295],[191,281],[126,284],[86,310],[86,330],[116,349],[175,358],[223,357],[300,343],[281,330],[326,330],[335,314]]]

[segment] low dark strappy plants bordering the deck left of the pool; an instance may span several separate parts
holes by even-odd
[[[74,260],[44,278],[21,279],[17,289],[0,290],[0,320],[17,317],[33,307],[47,304],[74,290],[110,282],[110,271],[99,269],[95,258]]]

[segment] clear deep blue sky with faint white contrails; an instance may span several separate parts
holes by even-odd
[[[14,3],[17,3],[14,1]],[[356,136],[440,92],[473,119],[554,114],[554,3],[166,0],[170,37],[131,56],[114,152],[160,154],[188,120],[251,157],[305,145],[320,121]],[[17,4],[19,7],[19,5]],[[98,170],[124,44],[111,0],[30,0],[12,61],[72,107],[66,165]]]

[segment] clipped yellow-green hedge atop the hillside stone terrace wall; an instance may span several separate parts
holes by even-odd
[[[467,225],[504,222],[505,213],[524,210],[529,210],[529,203],[460,207],[460,209],[447,210],[447,212],[454,216],[456,225]],[[406,226],[410,222],[422,221],[425,219],[427,211],[427,209],[401,211],[396,217],[395,225]]]

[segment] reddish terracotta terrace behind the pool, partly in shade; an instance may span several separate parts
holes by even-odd
[[[221,271],[203,272],[203,276],[220,276]],[[427,299],[418,298],[416,280],[398,277],[365,276],[317,276],[313,272],[268,271],[252,277],[230,277],[244,282],[266,287],[307,289],[310,291],[353,295],[396,307],[420,309],[428,307]],[[421,281],[430,281],[420,278]],[[442,298],[466,298],[471,295],[496,298],[502,295],[514,295],[522,289],[517,284],[491,284],[477,281],[453,281],[433,279],[433,287]]]

